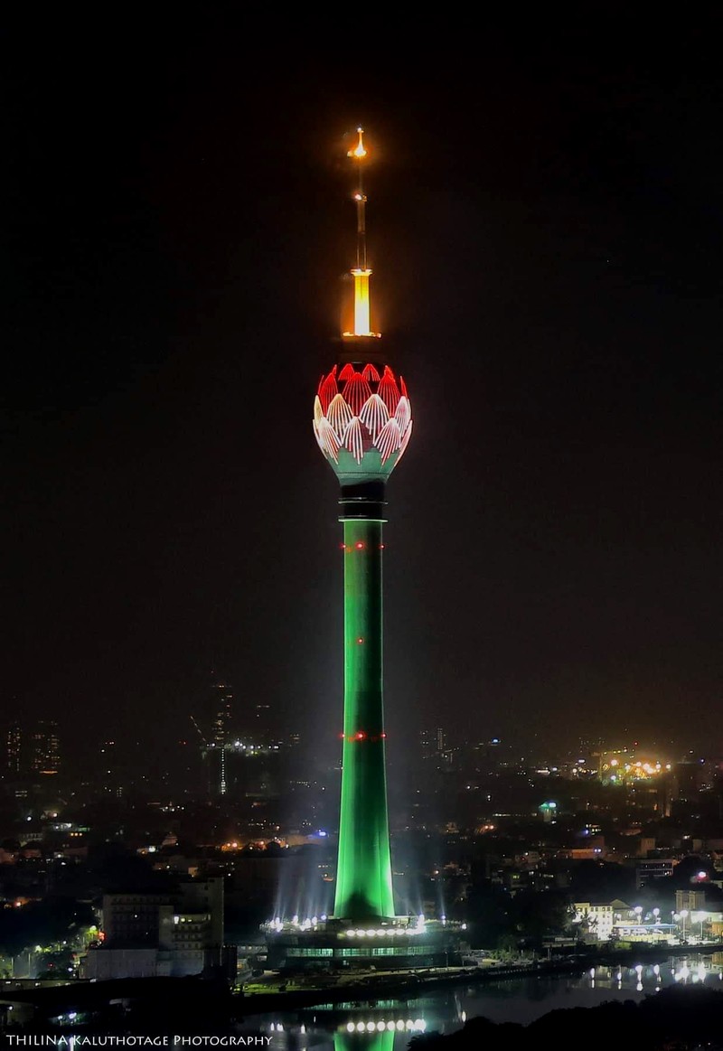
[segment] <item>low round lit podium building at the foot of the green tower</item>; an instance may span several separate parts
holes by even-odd
[[[377,926],[330,919],[264,925],[267,968],[298,971],[394,971],[460,967],[467,924],[396,916]]]

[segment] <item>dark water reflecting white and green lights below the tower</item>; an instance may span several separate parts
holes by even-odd
[[[467,1018],[530,1022],[558,1008],[641,1001],[670,985],[705,983],[723,989],[723,954],[672,957],[635,967],[596,966],[579,974],[528,976],[495,985],[450,987],[410,1000],[321,1005],[249,1017],[242,1030],[271,1037],[270,1051],[404,1051],[411,1036],[450,1033]]]

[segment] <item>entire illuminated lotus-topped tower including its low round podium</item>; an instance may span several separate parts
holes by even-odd
[[[336,363],[318,384],[313,431],[340,486],[344,558],[342,801],[333,914],[266,925],[269,966],[450,962],[458,933],[445,921],[397,916],[387,808],[383,698],[383,527],[387,479],[412,434],[407,386],[372,328],[367,259],[364,131],[349,151],[355,169],[353,320]],[[380,956],[388,957],[380,961]]]

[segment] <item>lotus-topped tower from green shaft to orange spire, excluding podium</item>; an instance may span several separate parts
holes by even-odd
[[[381,562],[385,487],[412,433],[401,376],[372,330],[367,260],[364,131],[349,151],[355,169],[356,261],[351,331],[314,399],[316,441],[339,480],[344,527],[344,744],[334,916],[394,915],[383,701]]]

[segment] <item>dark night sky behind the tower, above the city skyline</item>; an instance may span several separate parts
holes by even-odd
[[[437,723],[721,750],[721,25],[588,18],[463,47],[400,28],[367,61],[340,23],[333,55],[332,26],[281,47],[220,14],[8,35],[8,717],[171,741],[215,669],[240,721],[269,704],[336,747],[311,415],[360,122],[415,417],[388,490],[392,757]]]

